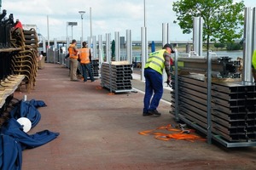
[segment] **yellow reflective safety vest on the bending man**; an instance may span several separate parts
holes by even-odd
[[[148,61],[145,65],[145,68],[150,67],[154,71],[163,74],[163,70],[165,68],[165,58],[164,54],[166,49],[161,49],[159,51],[155,51],[154,53],[149,54]]]

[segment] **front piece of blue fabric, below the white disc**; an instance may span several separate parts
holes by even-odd
[[[59,133],[44,130],[32,135],[23,132],[23,127],[14,118],[5,122],[1,129],[0,169],[20,170],[21,150],[32,149],[57,138]]]

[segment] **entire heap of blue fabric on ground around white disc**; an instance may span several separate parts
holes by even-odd
[[[46,144],[60,134],[44,130],[30,135],[25,133],[23,127],[17,122],[20,117],[26,117],[32,122],[32,127],[36,126],[41,118],[37,108],[43,106],[46,105],[41,100],[20,100],[15,109],[10,112],[11,118],[3,123],[0,131],[1,170],[21,170],[22,150]]]

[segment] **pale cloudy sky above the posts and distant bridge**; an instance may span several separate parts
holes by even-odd
[[[177,0],[145,0],[148,41],[162,40],[163,23],[169,24],[170,40],[191,40],[192,34],[183,34],[179,26],[173,23],[176,20],[173,2]],[[246,7],[256,7],[255,0],[244,2]],[[126,30],[131,30],[132,40],[140,40],[144,26],[144,0],[2,0],[1,11],[3,9],[7,10],[8,15],[14,14],[15,20],[19,19],[23,25],[36,25],[38,33],[47,39],[49,34],[50,40],[66,40],[67,36],[71,38],[72,35],[74,39],[80,39],[82,20],[79,11],[85,11],[84,40],[90,36],[90,31],[96,38],[102,35],[105,40],[107,33],[111,34],[111,39],[114,39],[115,32],[125,37]],[[77,22],[78,26],[72,29],[67,22]]]

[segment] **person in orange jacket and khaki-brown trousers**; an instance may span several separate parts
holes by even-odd
[[[78,82],[77,69],[78,69],[78,59],[79,50],[77,48],[77,41],[72,40],[72,44],[68,47],[69,59],[70,59],[70,80],[73,82]]]

